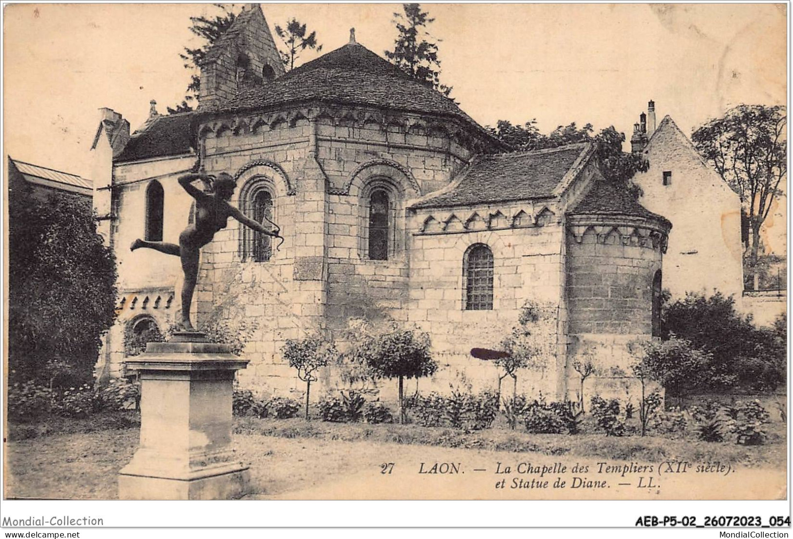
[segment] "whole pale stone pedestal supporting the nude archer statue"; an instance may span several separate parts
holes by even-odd
[[[119,499],[230,499],[247,467],[232,448],[232,383],[247,360],[203,334],[150,342],[140,373],[140,446],[118,476]]]

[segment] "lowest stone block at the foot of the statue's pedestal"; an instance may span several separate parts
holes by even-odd
[[[250,472],[240,468],[218,476],[179,480],[118,474],[119,499],[234,499],[248,491]]]

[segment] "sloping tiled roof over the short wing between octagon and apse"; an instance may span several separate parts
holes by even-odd
[[[487,155],[463,172],[458,183],[413,208],[435,208],[522,201],[554,196],[554,189],[587,144],[570,144],[549,150]]]

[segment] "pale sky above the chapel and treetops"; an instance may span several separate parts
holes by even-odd
[[[739,103],[787,101],[784,4],[423,4],[435,21],[441,80],[480,124],[536,118],[614,125],[630,139],[647,101],[687,134]],[[399,4],[262,4],[270,29],[290,17],[330,52],[383,55]],[[185,95],[179,53],[190,17],[212,4],[15,4],[4,10],[5,153],[90,177],[98,109],[143,124]],[[275,37],[278,42],[278,37]],[[316,58],[305,52],[297,63]],[[626,149],[627,149],[626,145]]]

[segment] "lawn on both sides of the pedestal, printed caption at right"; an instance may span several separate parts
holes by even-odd
[[[775,431],[768,444],[742,446],[653,436],[607,438],[504,429],[466,433],[414,425],[238,418],[235,438],[240,460],[251,466],[247,499],[761,499],[785,493],[784,426],[770,426]],[[6,496],[18,498],[115,499],[116,473],[138,442],[137,421],[131,414],[12,425],[9,434]],[[718,462],[734,472],[666,476],[660,488],[643,489],[637,488],[635,474],[630,486],[619,485],[624,477],[596,474],[600,462],[658,466],[662,461]],[[382,473],[381,465],[389,462],[394,463],[392,472]],[[436,462],[458,463],[461,475],[419,473]],[[503,477],[510,482],[513,477],[538,477],[500,476],[499,462],[502,468],[521,462],[549,467],[559,463],[567,469],[552,480],[563,476],[569,485],[573,476],[586,476],[607,480],[608,485],[551,490],[511,489],[508,484],[499,490],[494,485]],[[575,464],[588,466],[588,472],[573,473]]]

